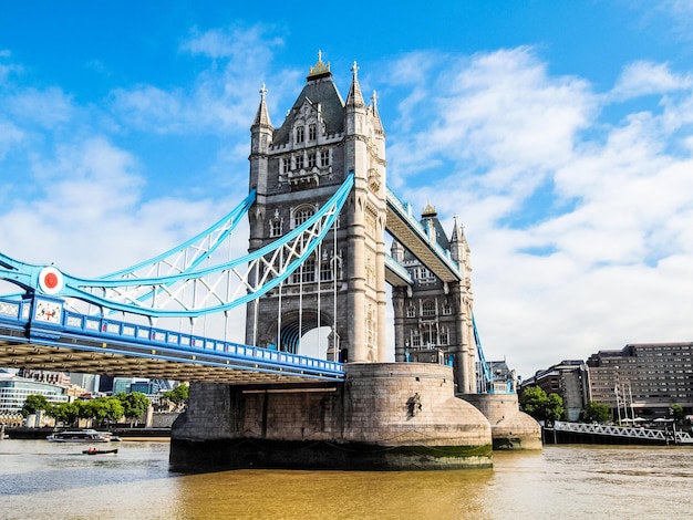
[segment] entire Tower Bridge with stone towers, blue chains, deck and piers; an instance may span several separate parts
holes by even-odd
[[[0,299],[0,365],[198,382],[174,428],[178,462],[204,456],[190,441],[223,440],[227,465],[478,467],[490,460],[485,416],[510,445],[536,447],[516,396],[493,398],[489,372],[477,370],[466,238],[456,219],[448,238],[431,205],[417,220],[387,188],[376,96],[366,105],[355,63],[343,101],[319,58],[279,127],[266,95],[250,127],[249,195],[198,236],[95,279],[0,253],[0,279],[18,288]],[[248,253],[231,258],[244,217]],[[228,339],[242,306],[245,344]],[[318,355],[307,357],[313,329]],[[297,389],[306,383],[309,394]],[[247,439],[262,449],[238,445]],[[359,462],[322,441],[359,447]]]

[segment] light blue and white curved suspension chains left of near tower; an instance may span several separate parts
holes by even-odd
[[[176,269],[173,273],[134,277],[137,268],[148,267],[151,262],[161,263],[172,254],[179,254],[188,250],[196,239],[209,236],[209,232],[200,233],[148,262],[97,279],[72,277],[53,267],[28,264],[0,253],[0,279],[17,283],[30,292],[74,298],[102,309],[148,318],[197,318],[228,311],[278,287],[310,257],[338,218],[352,186],[353,174],[350,174],[320,211],[301,226],[252,253],[213,267],[203,268],[201,261],[228,236],[238,220],[236,217],[247,211],[254,194],[241,204],[241,209],[237,208],[238,214],[231,219],[232,226],[225,218],[207,230],[217,232],[218,237],[205,254],[196,257],[185,268]],[[46,280],[50,280],[51,287],[46,285]],[[236,283],[232,297],[221,295],[217,289],[230,285],[231,281]],[[186,288],[205,290],[204,301],[185,301],[182,294]],[[157,301],[162,294],[164,301]],[[165,305],[173,305],[174,309],[165,309]]]

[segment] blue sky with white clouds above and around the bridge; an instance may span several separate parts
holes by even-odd
[[[93,275],[204,229],[322,50],[389,185],[464,223],[488,358],[693,339],[692,1],[141,3],[3,6],[4,254]]]

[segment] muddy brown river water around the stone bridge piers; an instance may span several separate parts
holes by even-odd
[[[1,519],[649,519],[693,514],[693,448],[546,446],[463,471],[168,471],[168,443],[0,441]]]

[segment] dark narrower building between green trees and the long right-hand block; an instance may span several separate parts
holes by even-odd
[[[581,360],[562,361],[537,372],[521,383],[521,388],[538,386],[548,394],[563,399],[568,420],[578,420],[580,410],[591,401],[588,366]]]

